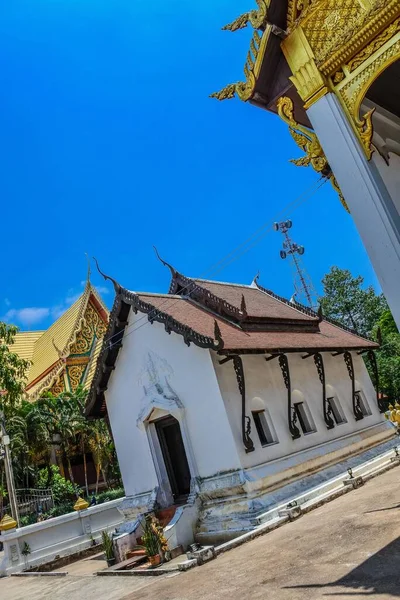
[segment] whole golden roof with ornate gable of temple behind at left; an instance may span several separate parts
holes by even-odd
[[[79,384],[90,387],[94,351],[107,323],[108,309],[88,281],[82,295],[48,329],[18,333],[10,350],[31,362],[25,389],[28,400],[46,391],[54,395],[75,391]]]

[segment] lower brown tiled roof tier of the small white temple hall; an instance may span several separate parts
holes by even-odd
[[[255,291],[257,292],[257,290]],[[213,293],[215,293],[214,290]],[[259,294],[262,294],[262,292],[259,292]],[[361,349],[378,346],[375,342],[365,340],[324,320],[319,325],[320,331],[318,333],[243,331],[238,325],[232,325],[227,320],[221,319],[185,298],[178,296],[166,297],[157,294],[139,294],[139,298],[154,306],[157,311],[168,314],[200,335],[213,338],[214,323],[217,321],[224,341],[222,353],[237,350],[307,351],[337,350],[340,348]],[[290,307],[284,306],[284,308],[292,310]]]

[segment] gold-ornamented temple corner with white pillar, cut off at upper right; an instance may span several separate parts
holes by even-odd
[[[329,179],[400,327],[400,1],[257,0],[223,27],[254,29],[238,96],[279,114]],[[237,124],[235,124],[237,126]]]

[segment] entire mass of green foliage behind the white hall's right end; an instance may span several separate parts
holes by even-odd
[[[400,399],[400,334],[383,294],[350,271],[332,267],[322,280],[324,314],[380,342],[377,352],[379,387],[390,400]],[[367,363],[369,368],[369,363]]]

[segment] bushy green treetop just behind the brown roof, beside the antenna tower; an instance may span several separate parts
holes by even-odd
[[[364,288],[364,278],[353,277],[347,269],[332,267],[322,284],[320,304],[324,315],[359,335],[370,336],[382,313],[389,311],[383,294],[377,294],[372,286]]]

